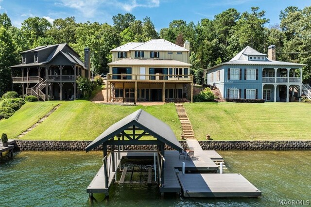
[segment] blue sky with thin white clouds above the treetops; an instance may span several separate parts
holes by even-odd
[[[0,13],[6,12],[18,28],[31,16],[45,17],[51,22],[75,16],[77,22],[112,24],[112,16],[131,13],[140,20],[150,16],[159,31],[174,19],[197,23],[202,18],[213,19],[228,8],[242,13],[250,12],[252,6],[266,11],[269,25],[279,23],[278,15],[287,6],[302,9],[311,6],[311,0],[0,0]]]

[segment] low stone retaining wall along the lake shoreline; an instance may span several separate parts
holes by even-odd
[[[184,149],[186,141],[179,141]],[[28,141],[16,140],[16,150],[82,151],[91,141]],[[203,150],[310,150],[310,141],[199,141]],[[109,147],[108,147],[109,148]],[[124,145],[124,150],[153,150],[154,145]],[[165,146],[165,149],[172,149]],[[94,150],[103,150],[100,145]]]

